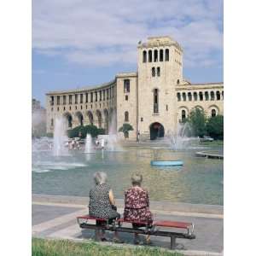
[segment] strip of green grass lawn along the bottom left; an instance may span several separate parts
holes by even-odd
[[[32,256],[183,256],[154,247],[114,247],[96,242],[45,240],[32,238]]]

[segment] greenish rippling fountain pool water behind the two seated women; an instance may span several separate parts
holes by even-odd
[[[202,204],[223,204],[223,160],[196,158],[195,151],[125,148],[124,152],[83,154],[55,158],[50,152],[32,154],[32,193],[88,196],[93,173],[108,173],[117,198],[131,186],[131,173],[143,174],[150,199]],[[150,166],[150,160],[183,160],[182,167]],[[44,165],[42,163],[47,163]],[[45,172],[44,170],[47,170]]]

